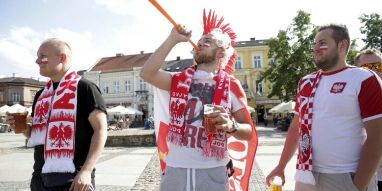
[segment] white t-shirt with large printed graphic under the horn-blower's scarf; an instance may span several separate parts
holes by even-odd
[[[166,165],[175,168],[193,168],[206,169],[226,166],[229,162],[227,151],[225,158],[218,162],[216,157],[205,157],[202,154],[204,145],[207,140],[207,134],[204,132],[204,111],[203,104],[212,103],[216,81],[213,80],[213,74],[205,71],[196,70],[191,86],[189,88],[188,99],[186,104],[186,128],[184,131],[185,139],[183,146],[178,147],[169,143],[169,154],[167,156]],[[243,106],[238,98],[230,91],[231,107],[227,111],[231,116]]]

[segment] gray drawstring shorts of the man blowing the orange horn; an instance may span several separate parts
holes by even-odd
[[[165,175],[161,177],[159,190],[229,190],[227,167],[183,169],[167,166]]]

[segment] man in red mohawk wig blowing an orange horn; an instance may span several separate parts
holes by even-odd
[[[232,45],[236,35],[228,24],[223,24],[223,17],[216,17],[210,11],[207,18],[204,11],[200,50],[194,52],[197,65],[178,73],[160,70],[171,49],[177,43],[187,42],[192,35],[192,31],[179,24],[179,29],[172,29],[140,72],[142,79],[160,89],[154,90],[158,92],[154,96],[154,117],[161,119],[155,128],[162,170],[163,163],[167,166],[162,171],[160,190],[248,189],[257,133],[244,91],[232,76],[236,58]],[[213,113],[208,114],[217,128],[214,134],[205,131],[205,104],[216,105]],[[160,117],[163,115],[166,117]],[[163,140],[167,141],[160,141],[165,127],[167,135]],[[244,152],[236,152],[241,153],[236,159],[242,160],[234,159],[233,163],[241,168],[229,179],[233,169],[227,145],[233,142],[240,143],[230,144],[236,145],[234,152]],[[245,179],[244,183],[235,176]]]

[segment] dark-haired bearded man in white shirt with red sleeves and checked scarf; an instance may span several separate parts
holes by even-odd
[[[314,58],[321,70],[298,83],[294,120],[267,182],[275,176],[285,182],[285,166],[298,148],[295,190],[377,190],[382,81],[346,63],[349,42],[345,25],[318,30]]]

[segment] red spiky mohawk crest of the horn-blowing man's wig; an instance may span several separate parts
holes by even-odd
[[[208,18],[206,17],[206,9],[203,10],[203,35],[211,33],[214,29],[220,29],[222,30],[223,34],[227,34],[231,38],[230,46],[236,45],[236,34],[233,32],[233,30],[229,27],[229,24],[223,24],[224,17],[217,20],[217,15],[215,15],[215,11],[213,11],[211,15],[211,10],[209,10]],[[230,59],[225,66],[224,71],[226,71],[229,74],[232,74],[235,71],[235,59],[236,59],[237,53],[234,50],[233,54],[230,55]]]

